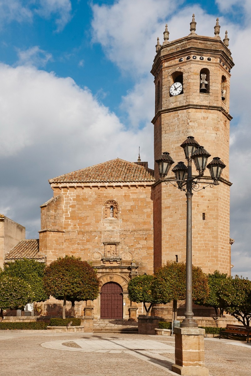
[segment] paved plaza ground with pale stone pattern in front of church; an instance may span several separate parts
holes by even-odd
[[[0,344],[0,376],[176,375],[173,337],[0,331]],[[210,376],[250,375],[250,355],[244,341],[205,339]]]

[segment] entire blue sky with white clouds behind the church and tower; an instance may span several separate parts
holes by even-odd
[[[0,2],[0,212],[37,238],[48,179],[116,158],[153,166],[157,36],[228,30],[233,274],[251,278],[251,0],[2,0]],[[107,146],[109,145],[109,147]],[[245,183],[241,174],[245,175]]]

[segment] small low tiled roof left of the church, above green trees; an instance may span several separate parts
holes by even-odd
[[[17,260],[21,258],[29,259],[43,259],[44,255],[39,253],[39,240],[26,239],[20,240],[8,253],[5,255],[5,260]]]

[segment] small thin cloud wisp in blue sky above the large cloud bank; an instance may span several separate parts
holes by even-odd
[[[30,47],[25,51],[17,50],[17,65],[33,65],[45,67],[48,61],[52,61],[52,54],[41,50],[38,46]]]

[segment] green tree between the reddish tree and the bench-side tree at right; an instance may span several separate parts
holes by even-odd
[[[203,301],[195,301],[198,305],[203,305],[205,307],[213,307],[216,312],[216,316],[218,316],[218,309],[219,309],[219,316],[223,316],[223,312],[227,308],[227,302],[222,297],[221,291],[226,286],[229,286],[229,279],[231,277],[228,277],[225,273],[219,273],[218,270],[215,270],[213,274],[208,274],[208,286],[209,286],[209,295],[208,297]]]

